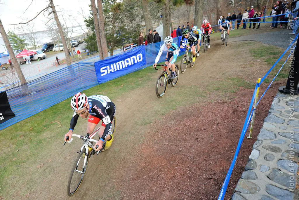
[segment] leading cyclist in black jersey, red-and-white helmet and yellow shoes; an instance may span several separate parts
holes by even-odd
[[[112,128],[112,120],[115,114],[115,105],[114,103],[106,96],[103,95],[92,95],[86,97],[85,94],[78,92],[71,99],[71,108],[74,110],[73,117],[70,123],[70,129],[67,134],[64,136],[71,139],[73,130],[77,124],[77,120],[80,117],[87,118],[87,133],[90,135],[94,132],[94,128],[102,120],[102,127],[98,132],[100,138],[99,141],[94,145],[99,147],[97,151],[102,149],[103,142],[106,140],[105,149],[108,149],[113,141],[113,134],[110,132]]]

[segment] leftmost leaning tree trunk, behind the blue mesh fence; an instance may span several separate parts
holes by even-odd
[[[7,34],[4,30],[4,27],[2,25],[2,22],[1,22],[1,19],[0,19],[0,33],[1,33],[1,36],[3,38],[3,41],[4,41],[4,44],[7,48],[7,51],[10,55],[10,59],[11,59],[11,62],[13,63],[13,68],[16,69],[16,72],[18,74],[18,77],[19,77],[19,80],[21,81],[21,84],[22,84],[22,89],[27,89],[28,86],[27,86],[27,82],[26,82],[26,79],[24,77],[24,74],[20,68],[20,65],[19,65],[19,62],[17,61],[16,59],[16,56],[15,56],[15,53],[13,52],[13,48],[11,47],[10,45],[10,42],[8,40],[8,37],[7,37]]]

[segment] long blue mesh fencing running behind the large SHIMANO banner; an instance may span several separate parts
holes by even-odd
[[[178,38],[174,38],[174,42],[178,44]],[[138,48],[145,49],[146,65],[133,71],[153,65],[158,51],[163,44],[164,42],[162,41],[129,50],[136,51]],[[183,51],[180,52],[180,55],[182,54],[184,54]],[[119,55],[120,54],[116,54],[106,59],[118,57]],[[163,62],[165,56],[166,52],[162,54],[159,62]],[[88,61],[89,59],[78,62],[51,74],[32,80],[27,83],[28,90],[26,91],[22,90],[22,86],[7,90],[8,101],[11,110],[15,113],[16,117],[2,123],[0,125],[0,130],[60,103],[79,91],[98,85],[99,83],[94,68],[94,62]],[[129,73],[132,73],[133,71]],[[86,77],[86,74],[88,74],[88,77]],[[123,73],[118,76],[103,80],[101,83],[105,83],[126,74],[128,73],[123,71]]]

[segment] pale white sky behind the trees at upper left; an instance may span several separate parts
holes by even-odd
[[[25,22],[26,19],[32,19],[36,14],[45,8],[49,3],[47,0],[33,0],[28,10],[24,13],[31,0],[1,0],[0,4],[0,19],[4,25],[6,32],[9,29],[15,30],[13,25],[19,22]],[[74,17],[77,17],[78,22],[81,25],[84,24],[82,16],[78,15],[78,11],[81,12],[81,8],[85,12],[85,15],[89,15],[90,0],[53,0],[57,11],[61,9],[67,13],[71,13]],[[45,23],[47,19],[42,13],[33,20],[36,31],[46,30]]]

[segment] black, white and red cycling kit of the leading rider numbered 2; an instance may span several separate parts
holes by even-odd
[[[102,120],[102,126],[105,126],[104,133],[101,139],[104,141],[112,127],[112,120],[115,114],[114,103],[106,96],[103,95],[92,95],[88,98],[89,104],[89,118],[88,122],[98,124]],[[71,119],[70,129],[74,130],[79,115],[74,112]]]

